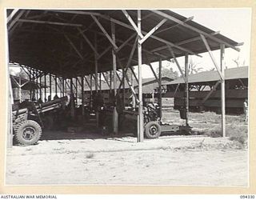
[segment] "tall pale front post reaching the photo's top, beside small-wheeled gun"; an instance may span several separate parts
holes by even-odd
[[[138,33],[141,33],[141,10],[138,10]],[[139,34],[138,34],[139,35]],[[142,105],[142,45],[138,37],[138,142],[143,142],[143,105]]]

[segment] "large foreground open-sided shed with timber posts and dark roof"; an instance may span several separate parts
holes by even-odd
[[[188,110],[187,66],[189,55],[209,52],[222,82],[223,52],[225,48],[239,50],[238,42],[210,30],[170,10],[7,10],[9,60],[26,68],[30,79],[55,78],[59,89],[70,87],[74,80],[92,86],[92,78],[98,90],[98,74],[113,71],[114,94],[120,90],[116,70],[122,70],[122,85],[130,78],[126,72],[130,66],[138,66],[138,142],[143,140],[142,116],[142,63],[159,61],[159,77],[154,77],[161,86],[163,59],[185,57],[186,110]],[[215,62],[211,50],[221,50],[221,66]],[[136,54],[135,54],[135,51]],[[110,76],[111,77],[111,76]],[[45,79],[46,80],[46,79]],[[112,80],[110,80],[112,82]],[[78,83],[77,83],[78,84]],[[57,86],[55,87],[57,88]],[[78,89],[78,87],[76,87]],[[50,87],[51,90],[51,87]],[[222,98],[222,106],[224,98]],[[71,109],[71,115],[74,115]],[[118,131],[118,114],[114,109],[114,132]],[[225,110],[222,109],[222,125],[225,126]],[[223,127],[223,131],[225,127]],[[225,133],[223,132],[225,135]]]

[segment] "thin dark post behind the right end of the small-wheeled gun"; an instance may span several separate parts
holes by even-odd
[[[185,106],[186,106],[186,126],[189,126],[189,55],[185,55]]]

